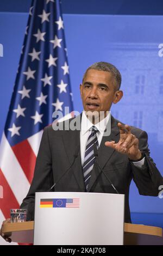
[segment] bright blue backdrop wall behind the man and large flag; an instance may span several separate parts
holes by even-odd
[[[4,128],[20,58],[27,13],[0,13],[0,136]],[[123,99],[112,114],[146,130],[151,156],[162,172],[163,148],[163,17],[121,15],[64,15],[74,109],[82,111],[79,84],[87,66],[110,62],[122,73]],[[163,199],[140,196],[131,184],[130,208],[134,223],[163,227]]]

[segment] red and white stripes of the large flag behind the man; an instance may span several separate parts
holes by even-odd
[[[62,121],[73,117],[73,112]],[[60,120],[61,121],[61,120]],[[10,209],[20,208],[33,179],[36,156],[39,151],[43,130],[11,147],[5,134],[0,145],[0,185],[3,198],[0,198],[0,225],[10,218]],[[2,244],[0,240],[0,245]],[[3,241],[7,244],[7,242]]]

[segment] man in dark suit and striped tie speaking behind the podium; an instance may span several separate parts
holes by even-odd
[[[129,186],[132,179],[140,194],[158,196],[163,179],[149,156],[147,133],[120,123],[108,112],[112,103],[123,96],[120,86],[121,74],[115,66],[105,62],[93,64],[80,84],[84,111],[69,122],[80,123],[80,129],[45,128],[32,185],[21,205],[28,209],[27,220],[34,220],[35,192],[48,191],[55,182],[53,191],[125,194],[125,222],[131,222]],[[109,127],[110,133],[106,133]],[[94,144],[99,165],[115,189],[95,162]]]

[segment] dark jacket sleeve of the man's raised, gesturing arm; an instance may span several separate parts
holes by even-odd
[[[141,131],[139,135],[135,133],[139,139],[139,149],[145,153],[145,163],[143,166],[136,167],[134,163],[131,164],[131,171],[133,173],[134,182],[143,196],[158,196],[159,186],[163,185],[163,178],[156,168],[156,164],[150,157],[148,148],[148,135],[145,131]]]

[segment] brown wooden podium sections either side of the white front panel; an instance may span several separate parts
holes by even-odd
[[[2,231],[14,242],[33,243],[34,221],[7,223]],[[162,228],[124,223],[124,245],[163,245]]]

